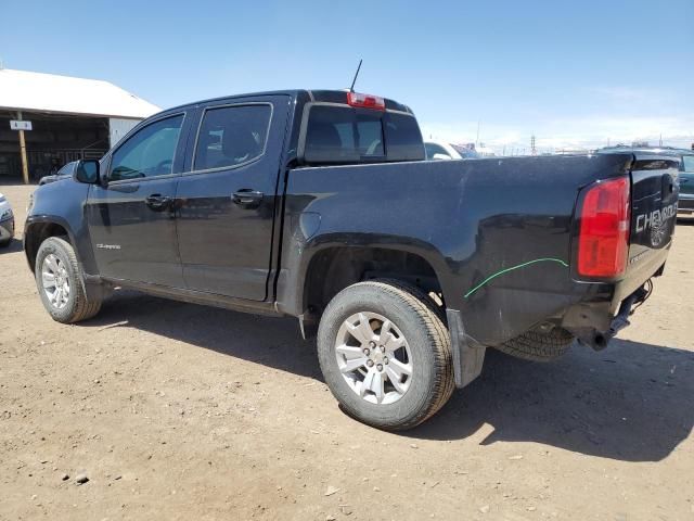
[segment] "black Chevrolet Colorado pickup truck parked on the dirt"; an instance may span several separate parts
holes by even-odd
[[[344,409],[391,430],[434,415],[487,347],[605,347],[663,272],[674,155],[424,158],[388,99],[192,103],[39,187],[24,250],[61,322],[117,287],[298,317]]]

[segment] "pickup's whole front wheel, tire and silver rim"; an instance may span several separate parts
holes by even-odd
[[[65,239],[50,237],[36,256],[36,285],[53,320],[79,322],[101,309],[101,298],[88,298],[75,250]]]

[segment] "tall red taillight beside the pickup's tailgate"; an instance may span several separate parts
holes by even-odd
[[[583,199],[578,275],[617,277],[629,252],[629,178],[596,182]]]

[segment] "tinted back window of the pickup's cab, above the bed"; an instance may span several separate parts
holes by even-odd
[[[416,120],[349,106],[313,105],[306,128],[308,163],[359,163],[423,160]]]

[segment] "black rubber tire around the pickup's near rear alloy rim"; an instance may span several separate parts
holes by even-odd
[[[343,322],[360,312],[393,321],[412,355],[409,389],[391,404],[370,403],[345,381],[335,343]],[[330,302],[318,330],[318,357],[333,396],[351,417],[369,425],[398,431],[412,429],[436,414],[454,389],[451,344],[436,305],[416,287],[394,280],[352,284]]]

